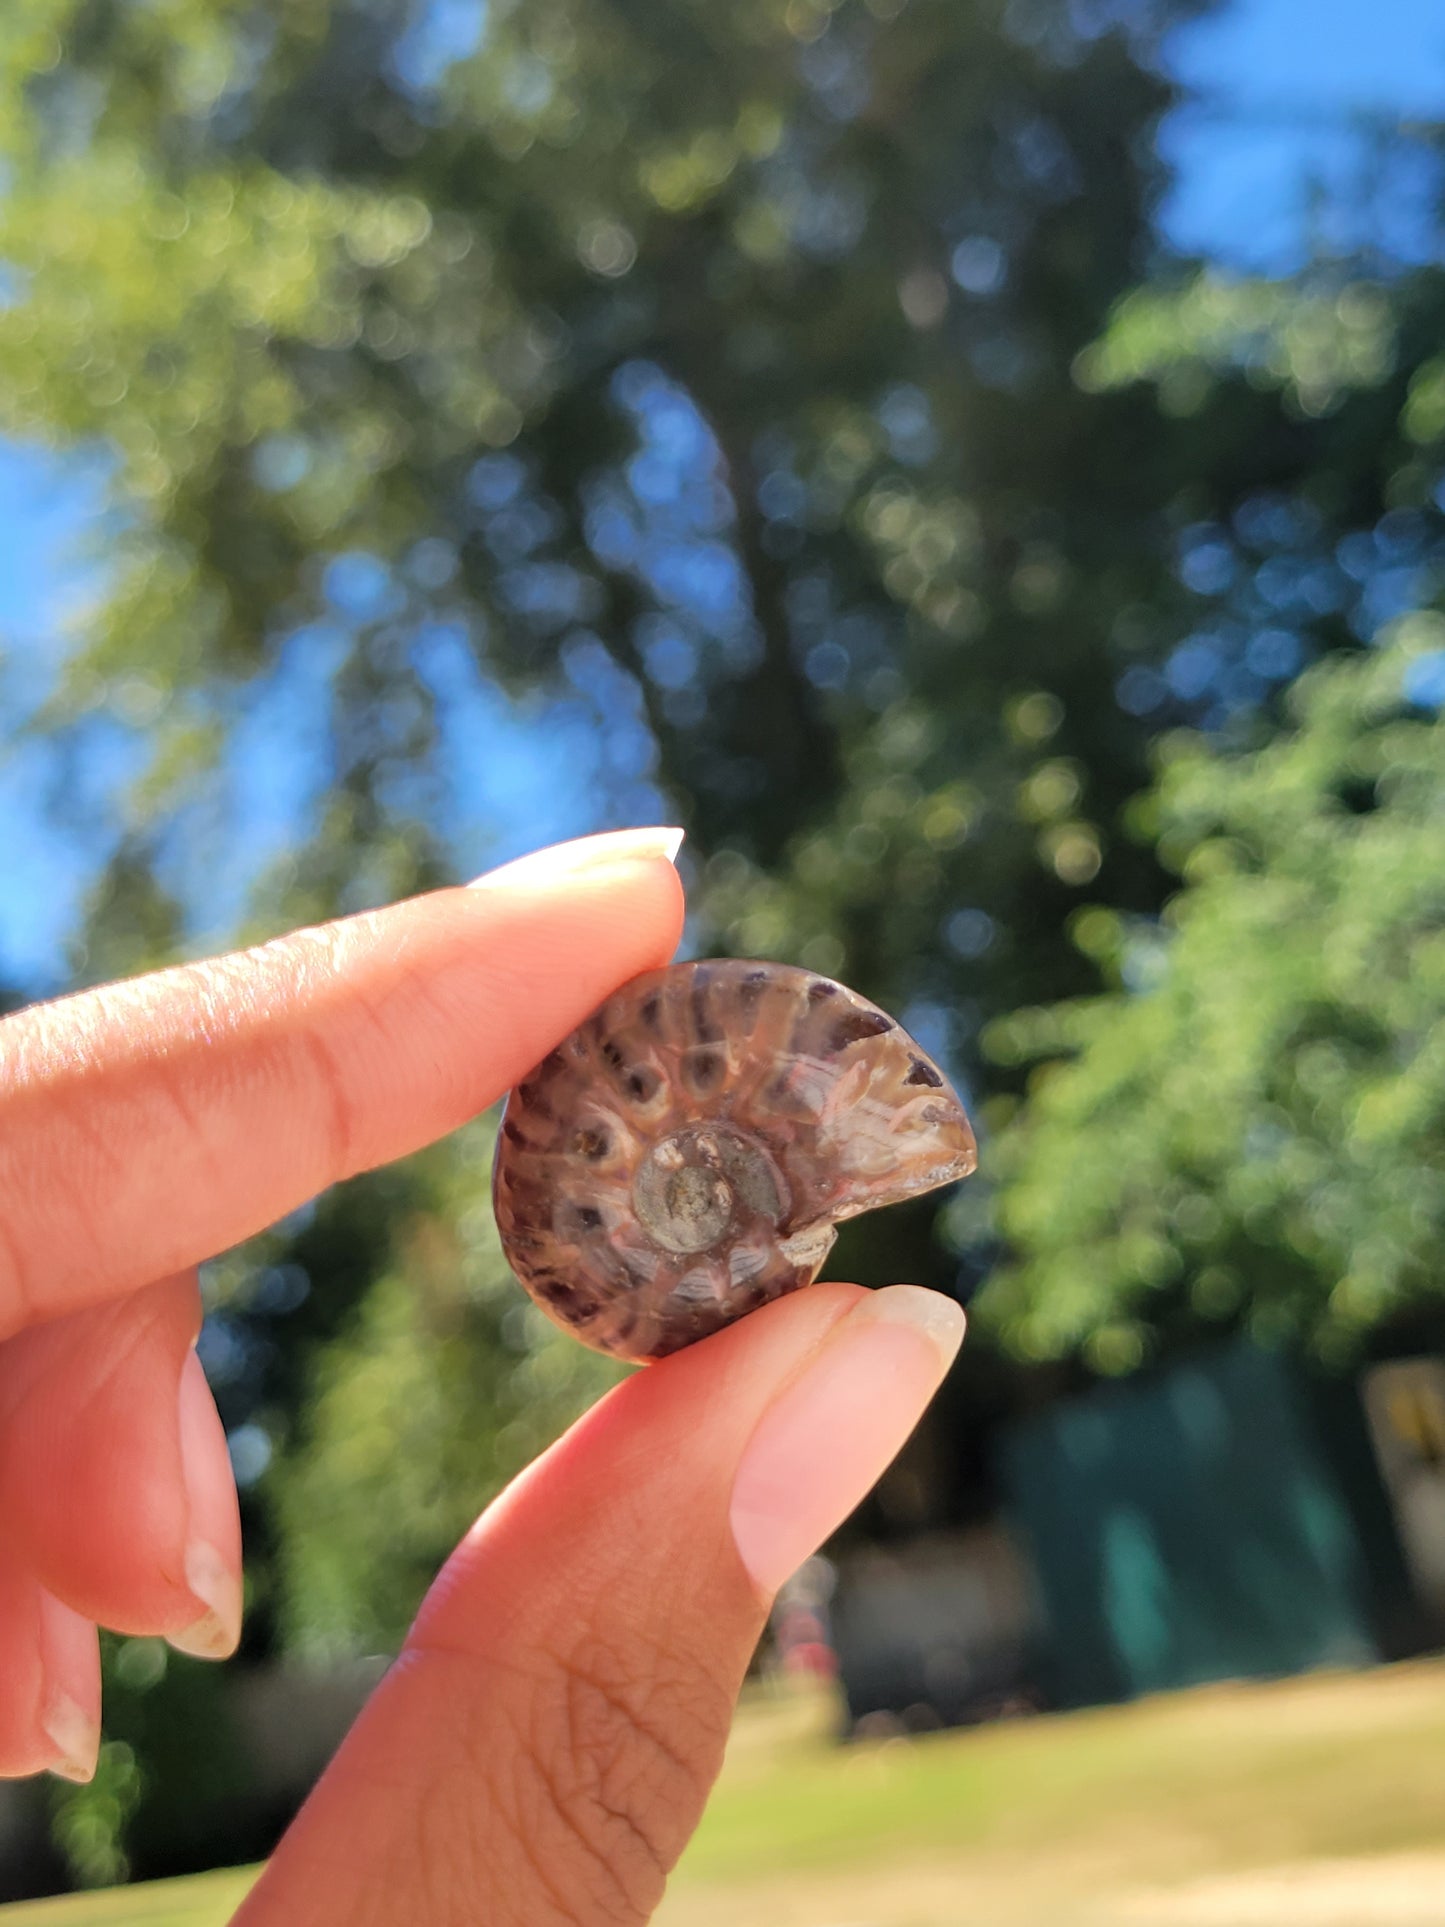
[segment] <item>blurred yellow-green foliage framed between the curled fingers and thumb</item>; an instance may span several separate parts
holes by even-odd
[[[270,1478],[287,1644],[389,1651],[476,1513],[620,1368],[524,1299],[486,1202],[489,1127],[430,1160],[355,1316],[318,1357],[295,1449]]]

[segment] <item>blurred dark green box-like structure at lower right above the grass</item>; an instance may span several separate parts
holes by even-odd
[[[1087,1705],[1422,1644],[1358,1395],[1235,1345],[1006,1434],[1050,1696]]]

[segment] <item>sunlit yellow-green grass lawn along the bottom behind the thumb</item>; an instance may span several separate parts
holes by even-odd
[[[828,1719],[744,1709],[659,1927],[1445,1923],[1439,1661],[854,1748]],[[0,1915],[220,1927],[247,1879]]]

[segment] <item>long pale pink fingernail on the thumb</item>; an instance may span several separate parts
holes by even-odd
[[[732,1538],[761,1592],[877,1484],[961,1343],[961,1308],[919,1285],[871,1291],[832,1328],[759,1420],[732,1486]]]

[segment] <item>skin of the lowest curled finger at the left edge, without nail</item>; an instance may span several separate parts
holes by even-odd
[[[19,1779],[56,1765],[56,1740],[42,1725],[56,1692],[98,1723],[94,1626],[48,1599],[10,1547],[0,1547],[0,1777]]]

